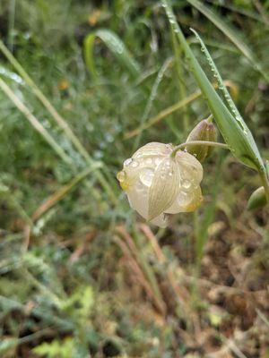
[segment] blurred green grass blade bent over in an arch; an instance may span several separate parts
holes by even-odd
[[[94,59],[93,59],[93,46],[95,38],[100,38],[109,50],[116,56],[117,61],[122,64],[128,72],[134,77],[137,78],[140,74],[139,64],[134,61],[134,58],[127,50],[123,41],[118,38],[118,36],[106,29],[96,30],[91,32],[84,39],[84,57],[85,62],[88,67],[88,70],[91,72],[91,75],[96,78],[97,72],[95,69]]]

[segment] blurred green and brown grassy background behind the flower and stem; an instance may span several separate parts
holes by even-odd
[[[268,159],[269,2],[172,4]],[[117,184],[135,149],[210,114],[161,3],[2,0],[0,35],[0,356],[268,358],[256,173],[215,149],[204,204],[167,229]]]

